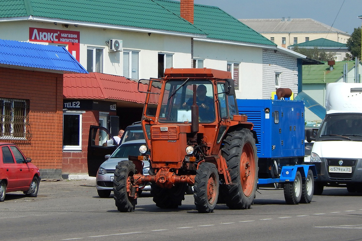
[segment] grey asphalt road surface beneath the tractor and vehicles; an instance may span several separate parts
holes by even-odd
[[[198,214],[192,195],[162,210],[146,192],[120,213],[94,181],[42,181],[37,198],[8,193],[0,203],[0,240],[362,240],[361,194],[325,188],[310,204],[286,205],[283,190],[259,192],[249,210],[212,214]]]

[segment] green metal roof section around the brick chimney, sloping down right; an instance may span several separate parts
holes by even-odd
[[[180,16],[179,1],[154,1]],[[207,38],[276,46],[275,43],[218,7],[194,4],[194,26],[202,29],[207,34]]]

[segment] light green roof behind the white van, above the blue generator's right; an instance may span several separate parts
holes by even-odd
[[[348,64],[348,71],[355,65],[355,61],[336,61],[333,70],[329,70],[329,65],[303,65],[303,84],[333,83],[343,76],[343,65]]]

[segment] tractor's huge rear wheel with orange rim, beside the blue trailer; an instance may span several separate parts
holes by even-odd
[[[222,155],[230,170],[232,184],[221,185],[230,209],[249,209],[253,203],[258,180],[258,157],[255,140],[249,129],[237,129],[224,139]]]

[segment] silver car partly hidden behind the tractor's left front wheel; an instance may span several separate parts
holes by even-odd
[[[139,147],[145,145],[144,139],[125,141],[120,145],[111,155],[106,155],[106,158],[109,158],[101,164],[98,168],[96,176],[96,188],[98,195],[101,198],[107,198],[113,190],[113,178],[115,167],[118,162],[128,160],[128,156],[138,156],[140,155]],[[148,175],[150,170],[150,163],[148,161],[143,161],[143,173]],[[139,193],[142,191],[150,191],[151,186],[146,185],[143,189],[140,187]]]

